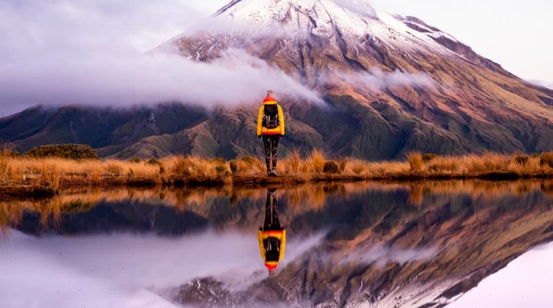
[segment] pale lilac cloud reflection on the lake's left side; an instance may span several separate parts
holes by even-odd
[[[319,239],[290,242],[285,260]],[[36,238],[12,230],[10,240],[0,242],[0,307],[174,307],[156,293],[196,277],[214,276],[223,282],[232,277],[229,282],[248,284],[265,278],[256,244],[253,232],[208,232],[179,239]]]

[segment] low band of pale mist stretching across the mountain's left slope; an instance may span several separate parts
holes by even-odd
[[[264,91],[318,100],[293,78],[244,51],[212,63],[179,55],[126,55],[63,62],[8,64],[0,73],[0,100],[10,103],[133,105],[180,101],[205,107],[260,100]]]

